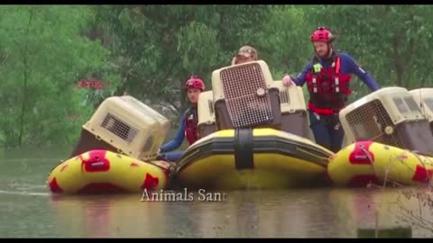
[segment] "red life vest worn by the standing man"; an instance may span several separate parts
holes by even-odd
[[[309,109],[321,114],[339,112],[345,106],[349,88],[350,74],[340,73],[340,57],[335,56],[331,67],[324,68],[318,58],[313,58],[311,71],[305,76],[309,89]],[[316,67],[316,68],[315,68]]]

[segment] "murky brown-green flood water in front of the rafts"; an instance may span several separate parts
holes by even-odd
[[[41,149],[0,153],[0,237],[357,238],[357,229],[376,226],[410,227],[414,238],[433,236],[432,229],[423,229],[433,227],[428,204],[405,197],[406,191],[425,194],[425,189],[219,192],[226,193],[225,202],[52,195],[45,179],[65,155]],[[405,213],[410,210],[414,216]]]

